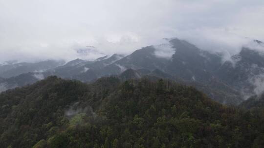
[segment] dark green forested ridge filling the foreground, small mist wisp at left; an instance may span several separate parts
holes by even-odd
[[[1,148],[263,148],[264,109],[147,78],[50,76],[0,93]]]

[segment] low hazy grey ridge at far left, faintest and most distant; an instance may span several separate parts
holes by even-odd
[[[64,61],[46,60],[36,63],[14,63],[5,62],[0,65],[0,77],[10,78],[19,74],[28,72],[44,72],[46,70],[54,69],[60,65],[63,65]]]

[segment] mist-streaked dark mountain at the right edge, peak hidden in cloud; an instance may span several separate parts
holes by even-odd
[[[255,40],[257,44],[264,47],[261,41]],[[233,55],[231,61],[226,61],[215,72],[221,80],[237,90],[246,94],[254,95],[255,89],[258,89],[256,81],[262,81],[264,74],[264,53],[263,51],[243,47],[238,55]],[[257,82],[258,83],[258,82]]]

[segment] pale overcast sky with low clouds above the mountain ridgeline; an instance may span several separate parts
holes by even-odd
[[[264,0],[0,0],[0,62],[129,54],[165,37],[236,54],[264,40]]]

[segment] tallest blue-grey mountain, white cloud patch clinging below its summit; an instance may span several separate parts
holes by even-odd
[[[168,47],[174,53],[171,58],[156,55],[157,47],[148,46],[136,50],[131,55],[104,67],[102,70],[97,70],[97,73],[98,75],[111,75],[120,74],[126,69],[135,71],[144,69],[150,72],[156,70],[159,74],[154,74],[155,76],[196,86],[199,90],[205,91],[210,97],[221,103],[239,104],[242,102],[239,90],[230,87],[214,74],[221,67],[220,55],[202,51],[185,40],[177,38],[168,40]],[[138,77],[138,75],[140,77],[143,75],[150,76],[150,72],[146,74],[136,72],[137,74],[134,74],[133,77]]]

